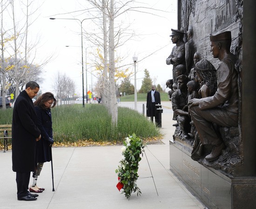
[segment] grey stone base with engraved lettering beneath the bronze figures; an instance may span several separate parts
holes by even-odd
[[[233,177],[192,160],[192,146],[178,138],[169,144],[170,170],[207,208],[256,208],[255,177]]]

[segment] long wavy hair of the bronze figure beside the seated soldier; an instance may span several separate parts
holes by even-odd
[[[195,72],[203,78],[202,84],[209,87],[211,94],[215,94],[217,91],[215,67],[207,59],[202,59],[195,64]]]

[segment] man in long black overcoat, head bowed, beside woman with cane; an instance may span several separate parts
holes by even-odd
[[[35,196],[38,196],[28,191],[30,172],[36,168],[36,141],[41,138],[32,101],[38,91],[39,85],[29,81],[26,89],[16,98],[13,107],[12,160],[13,171],[16,172],[18,200],[31,201],[36,200]]]

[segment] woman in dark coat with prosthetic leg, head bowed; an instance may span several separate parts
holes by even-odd
[[[35,110],[37,114],[37,126],[41,131],[41,140],[36,143],[36,162],[37,170],[33,172],[33,184],[30,186],[30,192],[40,193],[44,188],[36,185],[36,181],[45,162],[51,161],[50,149],[54,143],[52,129],[51,108],[57,104],[54,95],[51,92],[42,94],[35,102]]]

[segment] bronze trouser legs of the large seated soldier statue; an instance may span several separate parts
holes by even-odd
[[[238,114],[222,108],[200,110],[198,106],[192,106],[189,108],[189,112],[202,144],[217,145],[222,143],[222,139],[216,134],[213,123],[225,127],[238,125]]]

